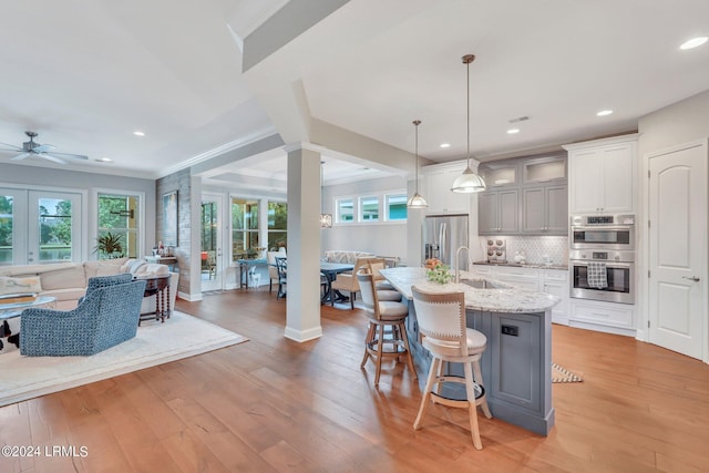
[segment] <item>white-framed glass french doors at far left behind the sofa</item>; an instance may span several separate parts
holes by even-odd
[[[0,265],[83,259],[80,193],[0,188]]]

